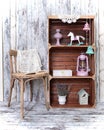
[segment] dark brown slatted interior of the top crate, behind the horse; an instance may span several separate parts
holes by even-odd
[[[77,23],[72,23],[72,24],[67,24],[67,23],[62,23],[61,22],[61,20],[59,20],[59,19],[51,19],[49,22],[49,33],[50,33],[50,35],[49,35],[49,42],[51,41],[51,44],[55,44],[55,42],[56,42],[56,40],[54,39],[54,34],[55,34],[55,30],[57,29],[57,28],[60,28],[60,30],[61,30],[61,33],[62,33],[62,35],[63,35],[63,38],[60,40],[60,42],[61,42],[61,44],[62,43],[70,43],[70,38],[68,38],[68,33],[69,32],[73,32],[74,33],[74,35],[82,35],[82,36],[84,36],[85,38],[86,38],[86,40],[85,41],[83,41],[82,39],[80,39],[81,41],[83,41],[83,42],[90,42],[90,44],[92,44],[93,42],[94,42],[94,32],[93,32],[93,30],[94,30],[94,28],[92,27],[92,24],[94,24],[93,23],[93,21],[92,21],[93,19],[88,19],[88,23],[89,23],[89,25],[91,26],[91,33],[89,34],[89,32],[85,32],[85,31],[83,31],[83,26],[84,26],[84,24],[86,23],[86,18],[82,21],[82,19],[79,19],[78,20],[78,22]],[[90,36],[90,41],[87,41],[87,39],[89,38],[89,36]],[[76,43],[78,43],[78,42],[76,42]]]

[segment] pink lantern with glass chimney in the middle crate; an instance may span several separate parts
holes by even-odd
[[[77,76],[88,76],[88,57],[81,53],[77,58]]]

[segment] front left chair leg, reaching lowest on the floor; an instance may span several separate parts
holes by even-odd
[[[24,81],[21,79],[20,81],[20,111],[21,111],[21,119],[24,117]]]

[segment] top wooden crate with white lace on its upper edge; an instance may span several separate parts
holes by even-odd
[[[88,22],[90,26],[90,31],[86,32],[83,31],[84,24]],[[49,32],[49,39],[48,42],[51,45],[55,45],[56,40],[53,38],[56,29],[60,29],[61,33],[63,35],[63,38],[61,39],[61,45],[67,45],[70,42],[69,37],[67,36],[69,32],[73,32],[75,35],[81,35],[86,38],[85,44],[93,44],[94,43],[94,17],[90,16],[88,18],[80,18],[77,20],[76,23],[63,23],[59,18],[57,17],[49,17],[49,26],[48,26],[48,32]],[[74,43],[73,43],[74,44]],[[75,43],[76,44],[76,43]]]

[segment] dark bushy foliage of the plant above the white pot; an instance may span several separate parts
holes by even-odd
[[[60,96],[65,96],[69,93],[69,86],[67,84],[57,84],[57,92]]]

